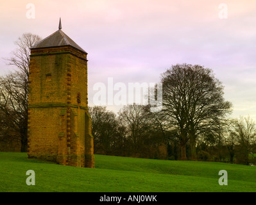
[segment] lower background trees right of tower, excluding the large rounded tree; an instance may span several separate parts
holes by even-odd
[[[132,156],[162,160],[223,161],[255,164],[256,124],[248,117],[226,119],[218,131],[199,135],[192,155],[191,141],[185,143],[160,113],[149,106],[126,105],[118,112],[105,106],[89,107],[95,154]],[[182,154],[186,154],[183,158]]]

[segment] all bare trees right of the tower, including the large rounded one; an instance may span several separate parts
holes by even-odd
[[[160,76],[162,108],[130,104],[115,114],[89,108],[96,153],[170,160],[255,163],[256,125],[230,119],[232,103],[211,69],[177,64]],[[157,90],[150,90],[157,92]]]

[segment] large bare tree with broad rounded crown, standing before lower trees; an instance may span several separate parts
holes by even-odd
[[[185,145],[191,145],[196,159],[196,139],[221,124],[231,103],[223,98],[223,86],[212,70],[201,65],[177,64],[162,74],[163,111],[176,129],[186,159]]]

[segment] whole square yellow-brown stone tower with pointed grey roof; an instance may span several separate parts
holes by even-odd
[[[28,157],[94,167],[87,53],[59,29],[31,47]]]

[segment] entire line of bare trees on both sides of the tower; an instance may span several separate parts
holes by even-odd
[[[6,61],[16,69],[0,77],[0,143],[13,138],[26,152],[30,47],[41,40],[25,33]],[[162,107],[128,104],[118,112],[89,107],[96,154],[165,160],[255,163],[256,126],[250,117],[230,119],[232,103],[211,69],[176,64],[160,75]],[[158,90],[149,92],[157,94]]]

